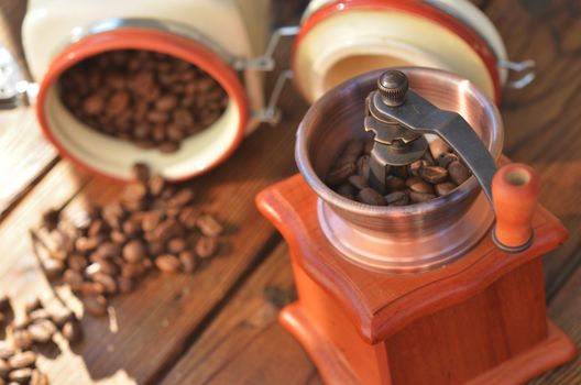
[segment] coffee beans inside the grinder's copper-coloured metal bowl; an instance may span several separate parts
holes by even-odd
[[[352,140],[339,154],[325,179],[339,195],[371,206],[407,206],[442,197],[472,174],[439,138],[430,142],[423,158],[391,167],[385,178],[387,194],[369,186],[373,141]]]

